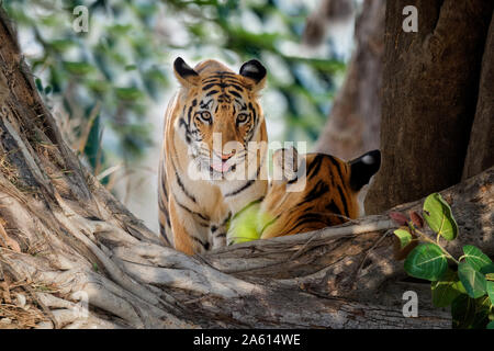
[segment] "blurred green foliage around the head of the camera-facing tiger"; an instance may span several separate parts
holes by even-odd
[[[175,90],[170,64],[179,55],[190,64],[212,56],[229,65],[261,59],[270,71],[272,111],[288,126],[285,138],[314,140],[329,109],[333,76],[345,65],[329,54],[322,59],[285,49],[299,44],[308,11],[303,1],[293,3],[4,0],[2,5],[18,26],[40,92],[60,106],[74,148],[98,173],[119,160],[138,159],[153,145],[150,106]],[[87,33],[72,30],[72,11],[81,4],[89,10]]]

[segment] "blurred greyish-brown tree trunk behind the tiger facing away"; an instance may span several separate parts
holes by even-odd
[[[356,22],[356,49],[315,150],[351,159],[379,148],[385,0],[367,0]]]

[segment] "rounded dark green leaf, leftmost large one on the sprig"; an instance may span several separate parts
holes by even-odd
[[[448,268],[445,252],[435,244],[422,244],[409,252],[404,263],[405,271],[418,279],[439,280]]]

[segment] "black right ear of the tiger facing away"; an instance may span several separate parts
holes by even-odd
[[[350,165],[350,186],[353,191],[359,191],[368,184],[381,167],[381,151],[372,150],[351,160]]]

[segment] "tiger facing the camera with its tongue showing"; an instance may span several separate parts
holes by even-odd
[[[159,161],[159,231],[187,254],[226,245],[226,225],[268,190],[267,70],[251,59],[235,73],[209,59],[173,61],[180,84],[165,114]]]

